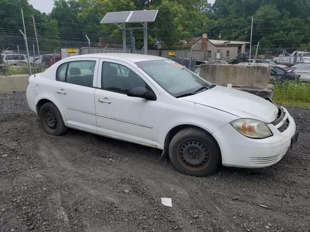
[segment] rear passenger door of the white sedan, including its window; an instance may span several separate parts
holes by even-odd
[[[77,58],[58,67],[54,95],[67,125],[97,131],[94,93],[98,65],[98,58]]]

